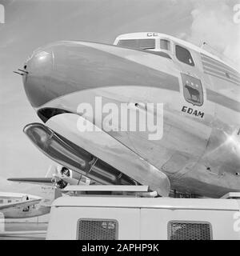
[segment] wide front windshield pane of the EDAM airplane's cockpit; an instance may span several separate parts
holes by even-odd
[[[155,39],[122,39],[118,41],[118,46],[139,48],[142,50],[154,49]]]

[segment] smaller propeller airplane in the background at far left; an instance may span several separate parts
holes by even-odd
[[[51,165],[43,178],[9,178],[10,182],[38,186],[30,188],[30,193],[0,192],[0,212],[4,218],[32,218],[49,214],[51,203],[62,196],[61,190],[69,183],[78,183],[70,175],[71,171],[65,167]]]

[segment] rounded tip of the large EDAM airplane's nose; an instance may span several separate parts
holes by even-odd
[[[42,48],[34,51],[34,54],[26,61],[28,74],[23,76],[23,84],[26,96],[34,107],[46,102],[46,86],[51,83],[53,70],[53,53],[51,48]]]

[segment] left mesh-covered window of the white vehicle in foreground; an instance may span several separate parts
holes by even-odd
[[[80,218],[78,240],[117,240],[118,222],[114,219]]]

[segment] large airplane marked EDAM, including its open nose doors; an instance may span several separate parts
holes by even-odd
[[[206,50],[167,34],[125,34],[114,46],[51,43],[19,71],[44,122],[24,133],[77,179],[147,185],[163,197],[170,190],[210,198],[240,191],[240,74]],[[162,118],[154,126],[162,127],[161,138],[110,124],[110,104],[121,110],[122,103],[130,114]]]

